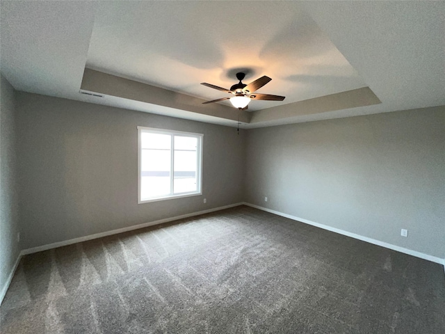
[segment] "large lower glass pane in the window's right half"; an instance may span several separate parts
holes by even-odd
[[[196,163],[196,151],[175,150],[173,193],[197,190]]]

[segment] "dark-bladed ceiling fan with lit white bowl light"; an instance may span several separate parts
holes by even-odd
[[[235,108],[245,110],[245,109],[248,109],[248,104],[249,104],[250,100],[268,100],[268,101],[282,101],[282,100],[284,100],[284,96],[254,93],[255,90],[258,90],[259,88],[261,88],[262,86],[267,84],[270,80],[272,80],[269,77],[266,77],[266,76],[261,77],[255,81],[252,81],[248,85],[243,84],[241,82],[244,79],[244,77],[245,77],[245,73],[243,73],[243,72],[236,73],[236,79],[238,79],[239,82],[238,82],[238,84],[234,84],[234,86],[230,87],[230,89],[218,87],[215,85],[211,85],[211,84],[202,82],[201,84],[204,86],[207,86],[207,87],[210,87],[213,89],[217,89],[217,90],[223,90],[223,92],[233,95],[232,97],[223,97],[222,99],[203,102],[203,104],[220,102],[220,101],[224,101],[224,100],[230,100],[230,102],[232,103],[232,105]]]

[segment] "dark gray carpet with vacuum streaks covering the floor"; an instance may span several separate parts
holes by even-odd
[[[22,259],[1,333],[445,333],[439,264],[236,207]]]

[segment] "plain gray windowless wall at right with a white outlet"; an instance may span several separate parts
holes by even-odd
[[[444,106],[247,137],[247,202],[445,257]]]

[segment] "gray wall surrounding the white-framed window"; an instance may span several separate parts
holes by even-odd
[[[17,125],[23,248],[243,200],[245,132],[232,127],[30,93]],[[137,126],[204,134],[203,196],[138,204]]]

